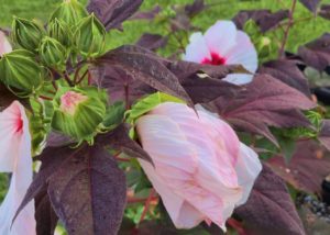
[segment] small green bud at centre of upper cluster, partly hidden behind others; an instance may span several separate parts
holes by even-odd
[[[62,45],[69,47],[72,45],[73,33],[66,23],[55,19],[48,25],[48,35],[57,40]]]

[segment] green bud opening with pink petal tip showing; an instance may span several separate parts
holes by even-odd
[[[107,112],[107,92],[96,87],[59,88],[52,127],[79,142],[92,143]]]

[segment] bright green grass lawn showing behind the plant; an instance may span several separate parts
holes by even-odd
[[[11,25],[12,16],[18,15],[28,19],[38,19],[46,21],[50,13],[61,0],[0,0],[0,26]],[[85,0],[84,3],[87,1]],[[173,4],[184,4],[193,0],[145,0],[142,10],[152,9],[155,4],[163,8]],[[204,11],[197,15],[194,25],[206,30],[220,19],[231,19],[238,11],[245,9],[272,9],[273,11],[289,8],[292,0],[207,0],[208,3],[218,3],[217,5]],[[282,3],[280,3],[282,2]],[[330,3],[330,0],[323,0],[323,3]],[[311,16],[311,13],[301,4],[297,5],[295,19]],[[111,31],[107,36],[107,47],[113,48],[122,44],[134,43],[143,32],[165,33],[165,27],[146,21],[130,21],[123,24],[123,32]],[[287,49],[296,52],[299,45],[311,41],[324,32],[330,31],[330,21],[321,18],[311,19],[296,24],[290,31]],[[0,175],[0,201],[3,199],[7,189],[7,177]]]

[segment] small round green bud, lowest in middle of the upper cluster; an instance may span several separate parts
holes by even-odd
[[[66,48],[57,40],[45,36],[42,40],[38,54],[42,61],[48,67],[59,70],[65,69],[67,52]]]

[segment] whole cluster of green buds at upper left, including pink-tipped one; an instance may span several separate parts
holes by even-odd
[[[11,38],[16,49],[1,55],[0,81],[19,97],[51,104],[47,119],[53,130],[92,142],[105,130],[108,94],[86,82],[82,86],[82,76],[76,78],[82,66],[103,54],[102,23],[77,0],[64,0],[45,25],[14,18]]]

